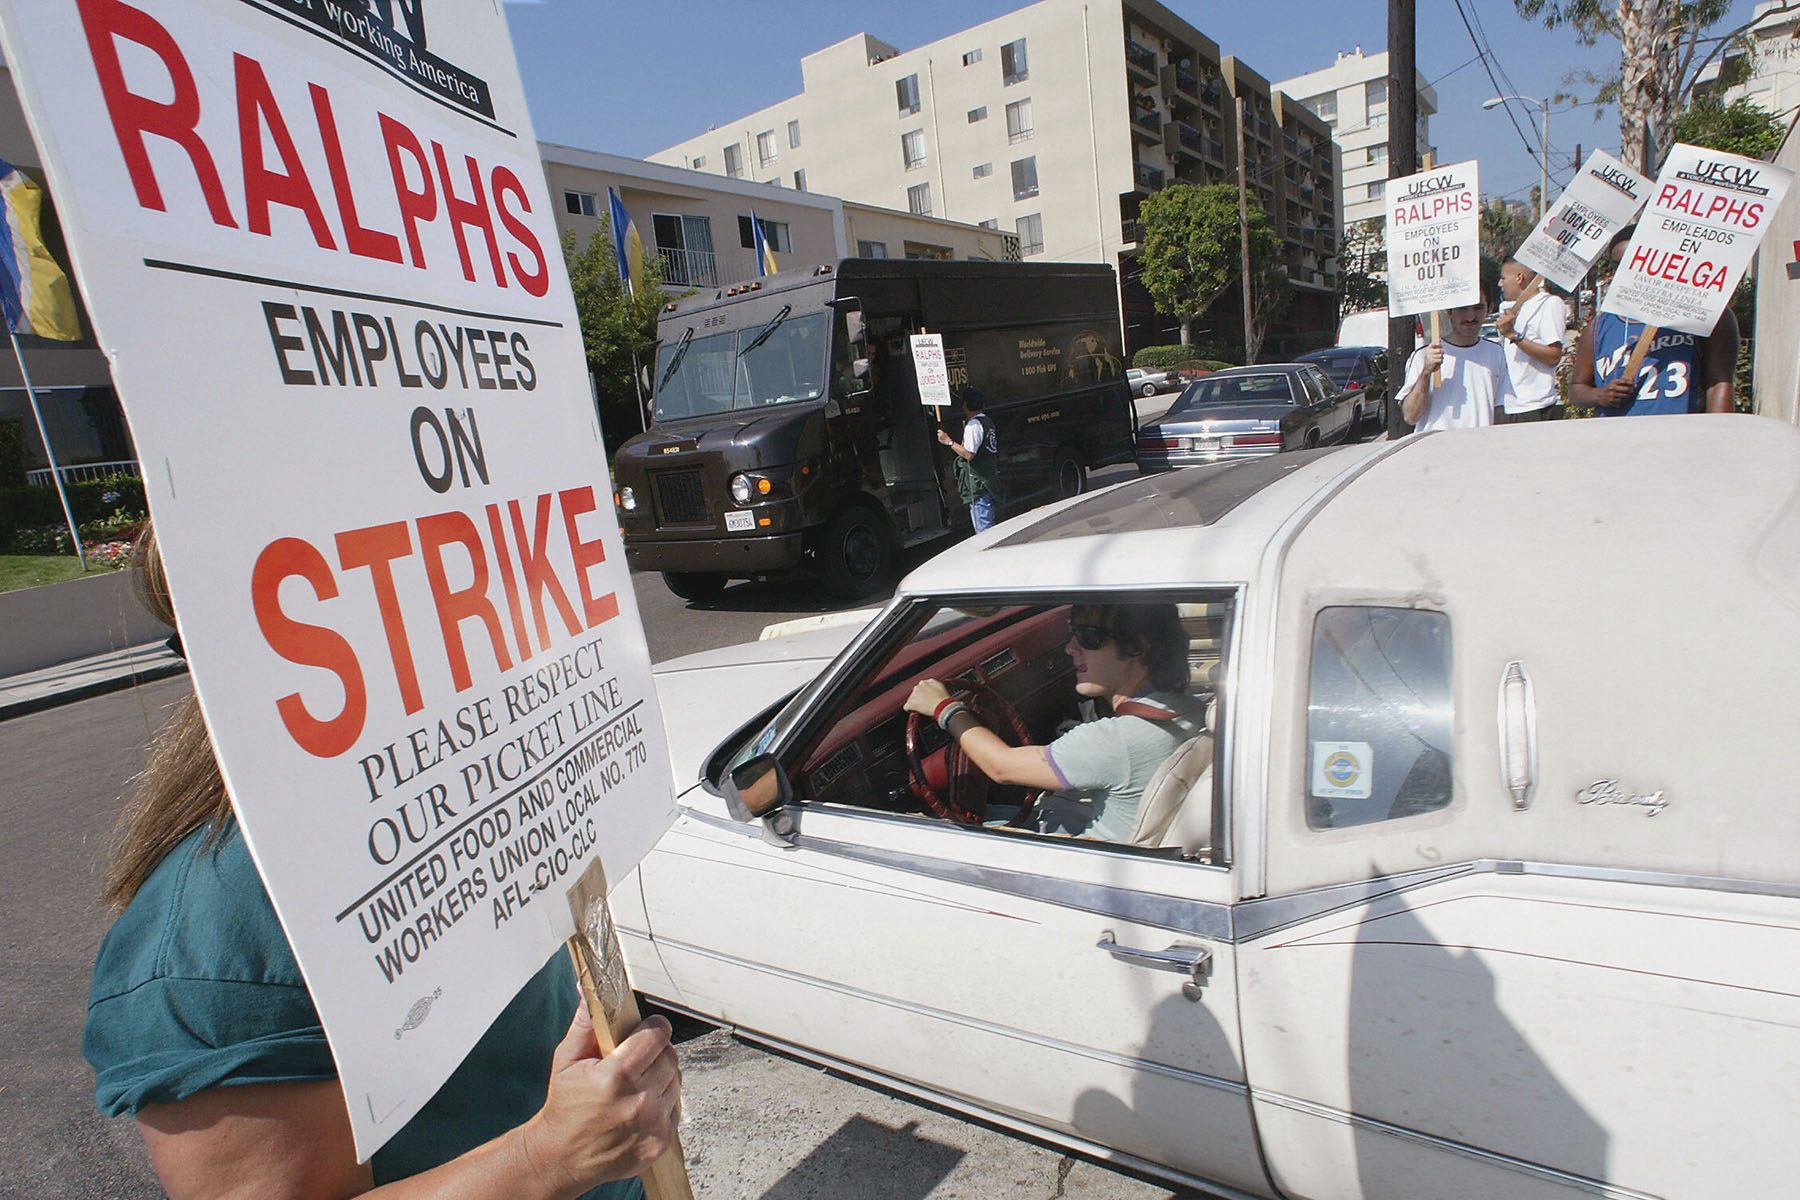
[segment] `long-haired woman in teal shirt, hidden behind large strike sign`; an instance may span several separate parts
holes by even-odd
[[[148,536],[139,561],[151,608],[173,622]],[[558,955],[358,1164],[331,1047],[191,696],[121,815],[104,898],[119,919],[94,963],[83,1054],[101,1110],[137,1117],[175,1200],[630,1200],[670,1146],[680,1069],[668,1022],[652,1016],[601,1060]]]

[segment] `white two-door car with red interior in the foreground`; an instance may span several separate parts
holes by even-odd
[[[664,664],[634,982],[1210,1195],[1789,1195],[1795,480],[1744,416],[1204,466]],[[1175,604],[1208,711],[1125,840],[900,707],[956,676],[1049,741],[1071,603]]]

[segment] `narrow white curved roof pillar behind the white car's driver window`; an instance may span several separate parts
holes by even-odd
[[[1287,520],[1282,522],[1282,527],[1269,538],[1269,545],[1264,549],[1262,560],[1256,563],[1256,579],[1251,585],[1251,599],[1244,604],[1244,612],[1240,613],[1240,619],[1246,622],[1246,642],[1251,637],[1251,630],[1256,628],[1262,630],[1262,639],[1256,646],[1258,662],[1251,664],[1240,658],[1235,667],[1235,675],[1240,682],[1237,689],[1238,707],[1244,712],[1255,712],[1255,716],[1238,721],[1237,725],[1238,736],[1233,741],[1237,741],[1238,747],[1240,766],[1235,770],[1242,770],[1242,777],[1231,777],[1231,795],[1269,795],[1273,756],[1269,725],[1273,721],[1274,707],[1273,689],[1276,642],[1282,635],[1276,617],[1282,610],[1282,570],[1287,565],[1287,551],[1294,545],[1294,538],[1300,536],[1300,533],[1312,522],[1314,515],[1325,507],[1332,497],[1368,473],[1377,462],[1399,453],[1408,444],[1417,444],[1417,439],[1390,443],[1381,450],[1368,453],[1368,457],[1350,462],[1345,470],[1319,484],[1319,488],[1307,497],[1305,504],[1300,504],[1292,513],[1289,513]],[[1251,617],[1253,610],[1255,617]],[[1228,808],[1233,806],[1228,804]],[[1255,817],[1244,820],[1240,829],[1233,828],[1229,831],[1233,837],[1242,833],[1242,842],[1228,846],[1231,846],[1231,862],[1237,864],[1240,873],[1240,894],[1262,896],[1269,878],[1269,806],[1258,802],[1249,804],[1249,808],[1255,808]]]

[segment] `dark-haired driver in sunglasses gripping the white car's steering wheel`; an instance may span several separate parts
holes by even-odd
[[[1066,651],[1075,693],[1112,714],[1049,745],[1006,745],[934,678],[913,687],[905,709],[936,720],[994,783],[1042,788],[1040,831],[1123,842],[1156,768],[1206,723],[1204,703],[1186,691],[1188,635],[1174,604],[1078,604]]]

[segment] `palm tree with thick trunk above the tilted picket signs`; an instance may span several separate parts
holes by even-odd
[[[1724,32],[1712,32],[1732,11],[1732,0],[1512,0],[1519,16],[1548,29],[1570,29],[1582,45],[1618,41],[1618,72],[1588,74],[1591,99],[1618,108],[1620,158],[1647,175],[1645,131],[1663,151],[1676,140],[1676,115],[1687,108],[1694,83],[1730,50],[1750,50],[1746,34],[1769,16],[1800,13],[1782,4]]]

